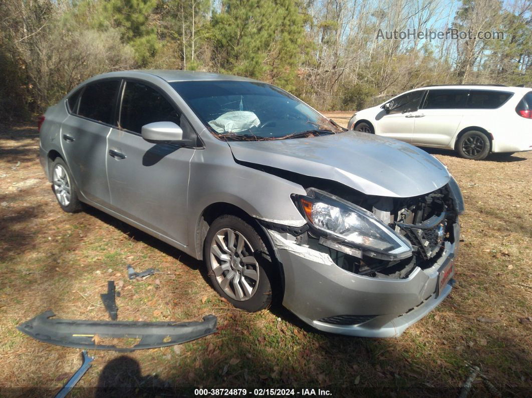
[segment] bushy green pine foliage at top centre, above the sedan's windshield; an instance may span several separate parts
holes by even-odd
[[[213,16],[220,69],[293,89],[304,54],[304,21],[297,2],[226,0]]]

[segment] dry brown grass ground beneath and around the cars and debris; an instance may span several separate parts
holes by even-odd
[[[331,116],[345,125],[350,114]],[[347,396],[446,396],[458,392],[471,362],[505,395],[529,395],[532,324],[519,318],[532,316],[532,153],[472,162],[431,151],[458,180],[467,206],[458,284],[393,340],[318,333],[282,308],[231,308],[206,282],[201,262],[100,211],[63,213],[37,153],[35,128],[1,129],[0,395],[42,395],[42,388],[49,395],[63,385],[80,364],[79,350],[37,342],[15,326],[46,309],[62,318],[107,319],[99,294],[111,279],[123,282],[119,319],[199,320],[212,313],[220,331],[175,348],[92,351],[96,361],[82,388],[193,395],[198,386],[322,386]],[[130,282],[126,264],[169,274]],[[486,395],[478,383],[473,391]]]

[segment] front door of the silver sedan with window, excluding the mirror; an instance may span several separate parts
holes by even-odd
[[[125,81],[118,128],[111,130],[106,154],[112,208],[187,245],[188,177],[196,149],[145,141],[142,126],[152,122],[173,122],[184,137],[197,137],[159,88]]]

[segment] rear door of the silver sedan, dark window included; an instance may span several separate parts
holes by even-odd
[[[69,101],[61,126],[61,147],[81,193],[98,204],[111,202],[105,170],[107,135],[115,118],[120,80],[98,80]]]

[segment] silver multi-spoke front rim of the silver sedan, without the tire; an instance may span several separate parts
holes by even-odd
[[[234,300],[251,299],[259,286],[259,264],[254,251],[236,230],[223,228],[214,235],[210,249],[212,272],[221,289]]]

